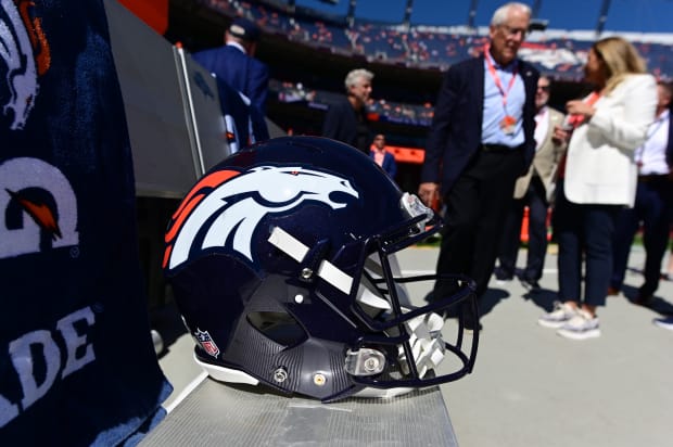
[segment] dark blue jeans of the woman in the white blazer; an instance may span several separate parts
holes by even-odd
[[[559,298],[605,306],[612,273],[612,238],[621,205],[576,204],[557,183],[554,233],[559,244]],[[582,265],[584,299],[582,299]]]

